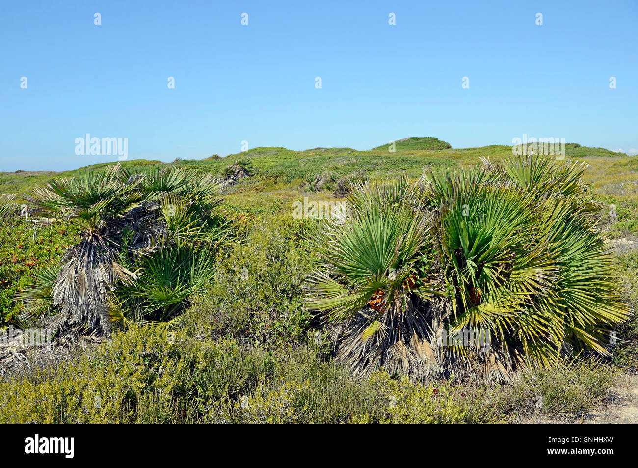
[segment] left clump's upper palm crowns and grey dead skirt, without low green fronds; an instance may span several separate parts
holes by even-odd
[[[60,313],[45,317],[54,330],[109,328],[108,293],[137,279],[136,263],[174,241],[219,244],[228,227],[211,214],[221,203],[212,176],[180,169],[130,174],[120,165],[50,181],[27,195],[36,226],[73,223],[82,239],[63,257],[53,288]],[[38,310],[27,301],[25,317]]]

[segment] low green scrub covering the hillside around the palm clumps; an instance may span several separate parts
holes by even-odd
[[[612,268],[619,275],[620,297],[635,310],[638,156],[576,144],[568,144],[566,154],[568,160],[588,165],[582,190],[591,195],[593,204],[588,206],[597,207],[591,220],[615,242]],[[144,242],[138,239],[130,251],[139,255],[122,259],[117,253],[118,261],[142,280],[115,292],[125,307],[119,309],[120,315],[111,315],[117,317],[114,333],[85,338],[92,343],[86,349],[69,345],[68,340],[56,342],[59,352],[49,354],[0,347],[5,361],[18,354],[31,359],[31,366],[0,370],[0,422],[493,423],[586,418],[605,401],[617,376],[635,369],[635,317],[614,328],[614,347],[606,356],[566,356],[553,368],[516,372],[506,382],[468,379],[461,371],[402,379],[396,370],[364,376],[349,372],[329,329],[304,300],[308,278],[320,271],[330,252],[311,253],[316,252],[325,220],[294,217],[294,202],[345,200],[350,183],[405,176],[410,185],[424,168],[447,174],[474,167],[481,158],[496,165],[511,155],[508,146],[454,149],[432,137],[412,137],[397,140],[395,153],[388,151],[388,145],[369,151],[260,147],[219,159],[122,162],[122,170],[131,174],[150,177],[163,169],[173,176],[195,175],[175,185],[170,195],[158,195],[158,187],[175,183],[173,176],[158,179],[156,185],[140,182],[135,188],[140,200],[148,200],[144,216],[157,216],[159,205],[161,213],[184,207],[179,211],[184,213],[182,227],[168,229],[171,235],[162,234],[162,220],[152,218],[158,232],[140,230]],[[22,204],[36,202],[22,197],[50,180],[113,165],[60,173],[0,173],[0,193],[15,195],[15,210],[3,214],[0,227],[0,328],[29,326],[24,312],[33,307],[34,296],[27,298],[25,292],[47,284],[50,288],[51,278],[47,283],[43,276],[45,267],[63,264],[64,253],[87,229],[56,221],[41,225],[34,236],[32,221],[37,213],[29,221],[19,213]],[[233,174],[246,167],[250,175],[220,187],[219,194],[217,188],[209,187],[211,192],[199,185],[205,174],[229,174],[228,167]],[[193,198],[193,192],[202,195]],[[223,203],[215,201],[217,195]],[[517,206],[517,200],[511,206]],[[201,222],[202,215],[189,211],[193,206],[213,217]],[[40,206],[41,213],[49,209]],[[77,214],[77,208],[68,209],[67,213]],[[413,213],[396,216],[414,218]],[[228,237],[219,234],[222,227]],[[136,238],[131,232],[121,230],[118,245]],[[228,242],[220,242],[220,236]],[[163,258],[163,264],[145,260],[142,251],[149,239],[152,244],[163,243],[165,251],[174,255]],[[190,266],[188,280],[151,273],[177,258]],[[202,262],[210,263],[193,268]],[[410,278],[406,276],[403,285],[409,286]],[[174,281],[184,287],[175,287]],[[50,289],[38,291],[36,304],[44,306],[34,309],[38,312],[32,318],[47,317],[52,307],[46,302]],[[459,304],[477,300],[474,291],[468,294],[470,299],[459,299]],[[90,332],[78,331],[75,341]]]

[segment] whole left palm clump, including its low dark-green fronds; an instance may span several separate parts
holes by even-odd
[[[54,283],[39,278],[20,292],[20,319],[100,334],[110,321],[170,324],[211,280],[207,252],[228,241],[227,223],[212,213],[220,190],[211,176],[175,168],[134,174],[120,165],[35,188],[25,200],[36,227],[71,225],[80,241]]]

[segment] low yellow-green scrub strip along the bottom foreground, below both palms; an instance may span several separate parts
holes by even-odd
[[[588,361],[508,388],[360,380],[314,344],[272,352],[133,326],[0,381],[0,423],[502,423],[582,414],[613,381]]]

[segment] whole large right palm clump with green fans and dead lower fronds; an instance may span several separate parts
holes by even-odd
[[[507,379],[578,349],[606,352],[605,338],[628,308],[595,228],[595,204],[573,177],[580,169],[549,160],[508,164],[536,175],[510,178],[503,167],[430,170],[414,188],[404,179],[360,185],[348,199],[350,220],[328,223],[313,239],[321,263],[308,300],[341,323],[338,356],[355,372],[382,366]],[[396,255],[405,245],[415,249]],[[385,278],[389,268],[398,282]],[[406,321],[406,310],[415,319]],[[392,313],[375,315],[383,311]],[[389,321],[395,317],[401,321]],[[406,322],[415,332],[410,343],[401,330]],[[388,338],[398,331],[403,347],[387,352],[401,341]],[[443,342],[446,331],[470,331],[475,340]]]

